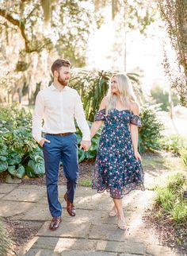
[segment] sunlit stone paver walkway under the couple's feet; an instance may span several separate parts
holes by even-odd
[[[65,186],[59,186],[63,207],[65,192]],[[63,210],[63,222],[57,231],[48,229],[51,215],[45,187],[0,184],[0,215],[30,223],[44,221],[36,237],[21,247],[20,256],[184,256],[182,251],[162,246],[155,231],[143,223],[154,193],[135,191],[124,196],[126,231],[118,229],[116,217],[108,215],[113,205],[109,194],[97,194],[85,187],[77,188],[76,216]]]

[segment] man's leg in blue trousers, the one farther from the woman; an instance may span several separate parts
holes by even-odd
[[[60,142],[58,136],[47,135],[51,143],[44,142],[44,162],[46,173],[46,185],[48,193],[48,205],[52,217],[61,216],[62,206],[59,203],[58,178],[60,161]]]

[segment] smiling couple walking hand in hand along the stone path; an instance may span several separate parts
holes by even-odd
[[[82,132],[80,148],[86,151],[90,148],[91,138],[105,124],[93,171],[92,188],[97,192],[109,192],[113,198],[109,216],[116,215],[117,227],[125,230],[122,197],[134,189],[144,190],[143,167],[138,152],[138,126],[141,126],[141,121],[132,84],[124,74],[111,77],[108,94],[102,99],[90,130],[78,92],[68,87],[70,61],[55,60],[52,75],[52,85],[36,96],[32,118],[33,138],[44,152],[48,206],[52,215],[49,228],[55,231],[62,220],[58,196],[60,161],[63,162],[63,172],[67,178],[67,192],[64,195],[67,212],[75,216],[74,192],[78,181],[75,118]]]

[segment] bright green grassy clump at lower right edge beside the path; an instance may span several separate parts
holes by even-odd
[[[187,200],[183,197],[186,190],[187,176],[184,173],[170,176],[165,185],[155,188],[153,219],[169,223],[168,229],[172,230],[178,245],[186,243],[187,237]]]

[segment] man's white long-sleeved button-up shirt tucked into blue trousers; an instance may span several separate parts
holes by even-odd
[[[82,140],[90,141],[90,128],[86,122],[78,92],[68,86],[59,91],[52,84],[36,96],[32,136],[40,142],[42,131],[48,134],[75,132],[74,118],[82,131]],[[42,127],[43,119],[44,126]]]

